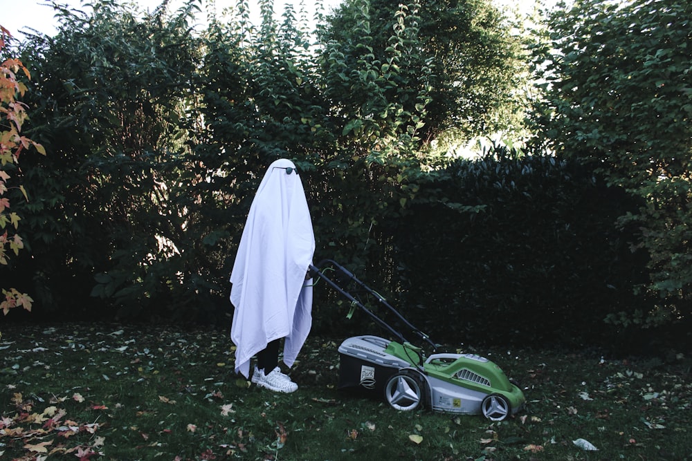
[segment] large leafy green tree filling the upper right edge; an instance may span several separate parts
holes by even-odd
[[[660,298],[650,326],[692,319],[691,24],[689,1],[580,1],[554,12],[537,50],[544,139],[642,199],[620,223],[639,227],[630,243],[648,252],[637,291]]]

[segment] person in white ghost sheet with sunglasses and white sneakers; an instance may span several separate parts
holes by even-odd
[[[312,283],[307,279],[315,252],[307,200],[291,160],[269,165],[250,207],[230,283],[236,346],[235,372],[248,377],[257,355],[252,382],[278,392],[298,385],[278,366],[291,368],[312,325]]]

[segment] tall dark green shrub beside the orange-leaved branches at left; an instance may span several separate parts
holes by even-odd
[[[89,13],[59,8],[58,34],[24,44],[36,77],[30,132],[53,154],[25,172],[41,263],[23,267],[46,310],[98,314],[93,294],[136,317],[154,299],[174,311],[179,292],[194,290],[185,215],[168,198],[189,151],[196,3],[174,15],[165,2],[150,14],[108,0]]]

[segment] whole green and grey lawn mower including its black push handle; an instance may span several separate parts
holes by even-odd
[[[316,266],[310,265],[309,274],[316,281],[324,280],[351,301],[349,318],[360,308],[394,337],[390,340],[363,335],[343,341],[338,348],[338,389],[384,395],[388,404],[399,411],[428,408],[482,414],[493,421],[502,421],[525,405],[521,389],[509,381],[499,366],[480,355],[435,353],[438,345],[428,335],[412,326],[380,294],[345,267],[327,259]],[[356,296],[347,291],[350,286],[356,290],[351,290]],[[385,312],[393,314],[419,341],[431,346],[433,353],[426,357],[423,348],[410,343],[401,332],[367,308],[361,295],[383,305]]]

